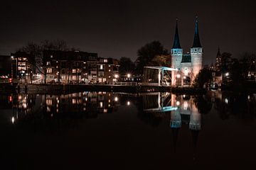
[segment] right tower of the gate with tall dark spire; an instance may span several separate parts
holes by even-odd
[[[196,17],[196,28],[193,40],[193,46],[191,47],[191,64],[192,64],[192,81],[196,78],[196,75],[202,69],[203,64],[203,47],[199,38],[198,30],[198,18]]]

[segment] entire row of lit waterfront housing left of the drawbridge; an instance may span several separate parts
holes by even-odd
[[[43,51],[41,64],[26,52],[0,57],[1,78],[19,83],[113,84],[119,78],[119,61],[82,51]]]

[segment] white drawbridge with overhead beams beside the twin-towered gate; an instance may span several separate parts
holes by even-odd
[[[144,67],[142,85],[171,86],[171,73],[178,69],[171,67],[147,66]]]

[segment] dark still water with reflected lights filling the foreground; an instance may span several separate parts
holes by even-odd
[[[256,95],[0,96],[0,169],[256,169]]]

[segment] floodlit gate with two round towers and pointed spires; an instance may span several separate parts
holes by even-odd
[[[196,29],[193,46],[190,53],[183,54],[178,37],[178,20],[176,20],[176,30],[174,35],[174,45],[171,48],[171,68],[178,69],[171,73],[171,85],[189,86],[192,84],[196,75],[202,69],[203,47],[200,42],[198,32],[198,18],[196,17]]]

